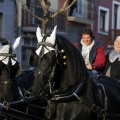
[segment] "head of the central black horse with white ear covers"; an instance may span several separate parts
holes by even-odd
[[[49,88],[49,84],[52,84],[52,78],[54,77],[54,69],[57,64],[57,53],[54,46],[56,27],[49,37],[45,35],[42,37],[39,27],[37,28],[36,35],[38,48],[35,53],[31,55],[29,62],[31,66],[35,67],[33,91],[38,94],[41,89],[46,90]]]

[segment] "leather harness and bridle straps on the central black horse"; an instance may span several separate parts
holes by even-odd
[[[46,46],[54,48],[54,45],[52,45],[51,43],[46,43],[44,41],[39,42],[39,47],[40,47],[40,45],[43,45],[46,49],[47,49]],[[56,54],[57,54],[57,52],[56,52]],[[41,55],[41,53],[39,54],[39,58],[40,58],[40,55]],[[100,84],[100,83],[97,84],[97,86],[98,86],[97,88],[100,91],[100,93],[101,92],[104,93],[104,96],[105,96],[104,97],[104,108],[101,108],[101,107],[97,106],[95,103],[91,102],[88,98],[85,98],[85,97],[82,97],[82,96],[79,97],[78,93],[81,91],[81,89],[84,86],[84,82],[83,82],[84,80],[81,83],[78,83],[76,85],[75,89],[70,91],[69,93],[61,94],[61,95],[55,95],[54,93],[57,93],[57,91],[52,90],[52,87],[54,86],[55,83],[53,83],[51,81],[51,79],[54,77],[54,72],[55,72],[55,66],[53,67],[53,70],[52,70],[51,75],[50,75],[50,79],[48,80],[50,94],[52,94],[51,95],[52,98],[49,98],[48,100],[57,101],[57,102],[63,102],[63,101],[68,102],[70,99],[77,99],[77,100],[79,100],[79,103],[86,105],[91,111],[93,111],[94,113],[100,115],[103,118],[103,120],[105,120],[107,117],[120,117],[120,114],[112,114],[112,113],[107,113],[106,112],[107,111],[107,99],[108,98],[106,96],[104,86],[102,84]],[[41,71],[36,70],[36,74],[41,74]],[[98,77],[101,77],[101,76],[97,76],[97,78]],[[97,79],[97,78],[95,78],[95,79]],[[83,79],[85,79],[85,77]]]

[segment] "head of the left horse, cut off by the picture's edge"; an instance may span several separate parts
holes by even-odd
[[[18,47],[20,37],[13,45],[4,38],[0,38],[0,100],[11,100],[15,85],[15,77],[20,74],[21,68],[17,61],[15,49]]]

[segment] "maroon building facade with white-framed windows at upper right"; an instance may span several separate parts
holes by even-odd
[[[120,36],[120,0],[95,0],[96,16],[93,32],[106,50],[113,47],[113,42]]]

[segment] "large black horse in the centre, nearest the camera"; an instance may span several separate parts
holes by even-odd
[[[30,57],[36,68],[32,90],[46,96],[44,120],[120,120],[120,82],[90,78],[80,52],[63,36],[42,37]]]

